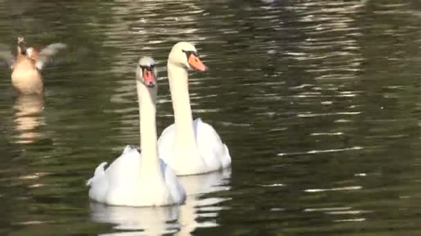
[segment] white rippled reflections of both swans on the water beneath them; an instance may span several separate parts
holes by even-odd
[[[130,208],[91,202],[91,219],[94,222],[116,224],[114,228],[117,230],[127,230],[102,235],[163,235],[177,231],[177,235],[190,235],[197,227],[217,225],[213,219],[221,208],[215,204],[226,199],[202,195],[228,189],[230,177],[231,169],[179,177],[188,195],[186,204],[182,206]],[[201,222],[196,221],[197,217],[202,218]],[[206,220],[209,217],[211,219]]]

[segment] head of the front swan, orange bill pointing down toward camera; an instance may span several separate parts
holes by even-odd
[[[136,79],[144,83],[148,88],[156,86],[156,68],[152,57],[142,57],[136,66]]]

